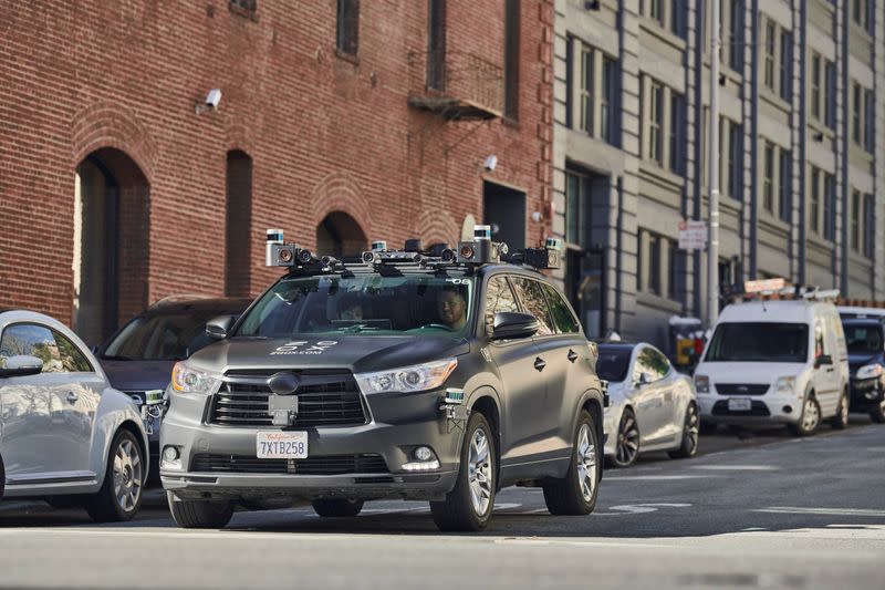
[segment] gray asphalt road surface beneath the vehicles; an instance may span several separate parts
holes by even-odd
[[[587,517],[503,490],[481,535],[440,535],[425,504],[404,501],[331,520],[239,513],[221,531],[177,529],[156,504],[124,526],[13,505],[0,509],[0,586],[885,589],[885,427],[701,444],[695,459],[607,470]]]

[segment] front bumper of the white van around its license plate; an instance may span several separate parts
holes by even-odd
[[[751,408],[729,410],[728,401],[731,397],[750,400]],[[802,401],[803,397],[795,394],[777,394],[771,391],[752,396],[698,394],[700,418],[710,424],[795,424],[802,415]]]

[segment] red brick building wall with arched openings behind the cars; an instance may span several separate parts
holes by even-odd
[[[529,214],[546,210],[551,0],[521,2],[516,123],[447,123],[408,106],[426,2],[361,2],[356,61],[336,55],[334,0],[258,4],[252,19],[226,0],[0,0],[0,307],[71,320],[74,173],[108,148],[149,185],[149,219],[123,218],[147,253],[124,236],[143,263],[123,269],[121,289],[137,299],[144,275],[144,302],[223,293],[230,149],[253,164],[242,228],[253,294],[279,275],[262,267],[269,227],[313,247],[317,224],[340,210],[368,239],[454,241],[465,216],[482,218],[483,176],[524,190]],[[502,64],[503,0],[448,7],[448,52]],[[211,87],[219,110],[196,114]],[[531,244],[548,221],[527,228]],[[135,310],[122,301],[124,311]]]

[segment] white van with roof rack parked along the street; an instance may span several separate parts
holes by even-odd
[[[695,370],[702,423],[848,422],[848,353],[835,306],[751,301],[722,310]]]

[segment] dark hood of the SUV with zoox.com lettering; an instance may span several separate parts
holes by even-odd
[[[230,369],[348,369],[364,373],[438,361],[469,351],[467,340],[448,335],[233,338],[206,346],[188,363],[220,373]]]

